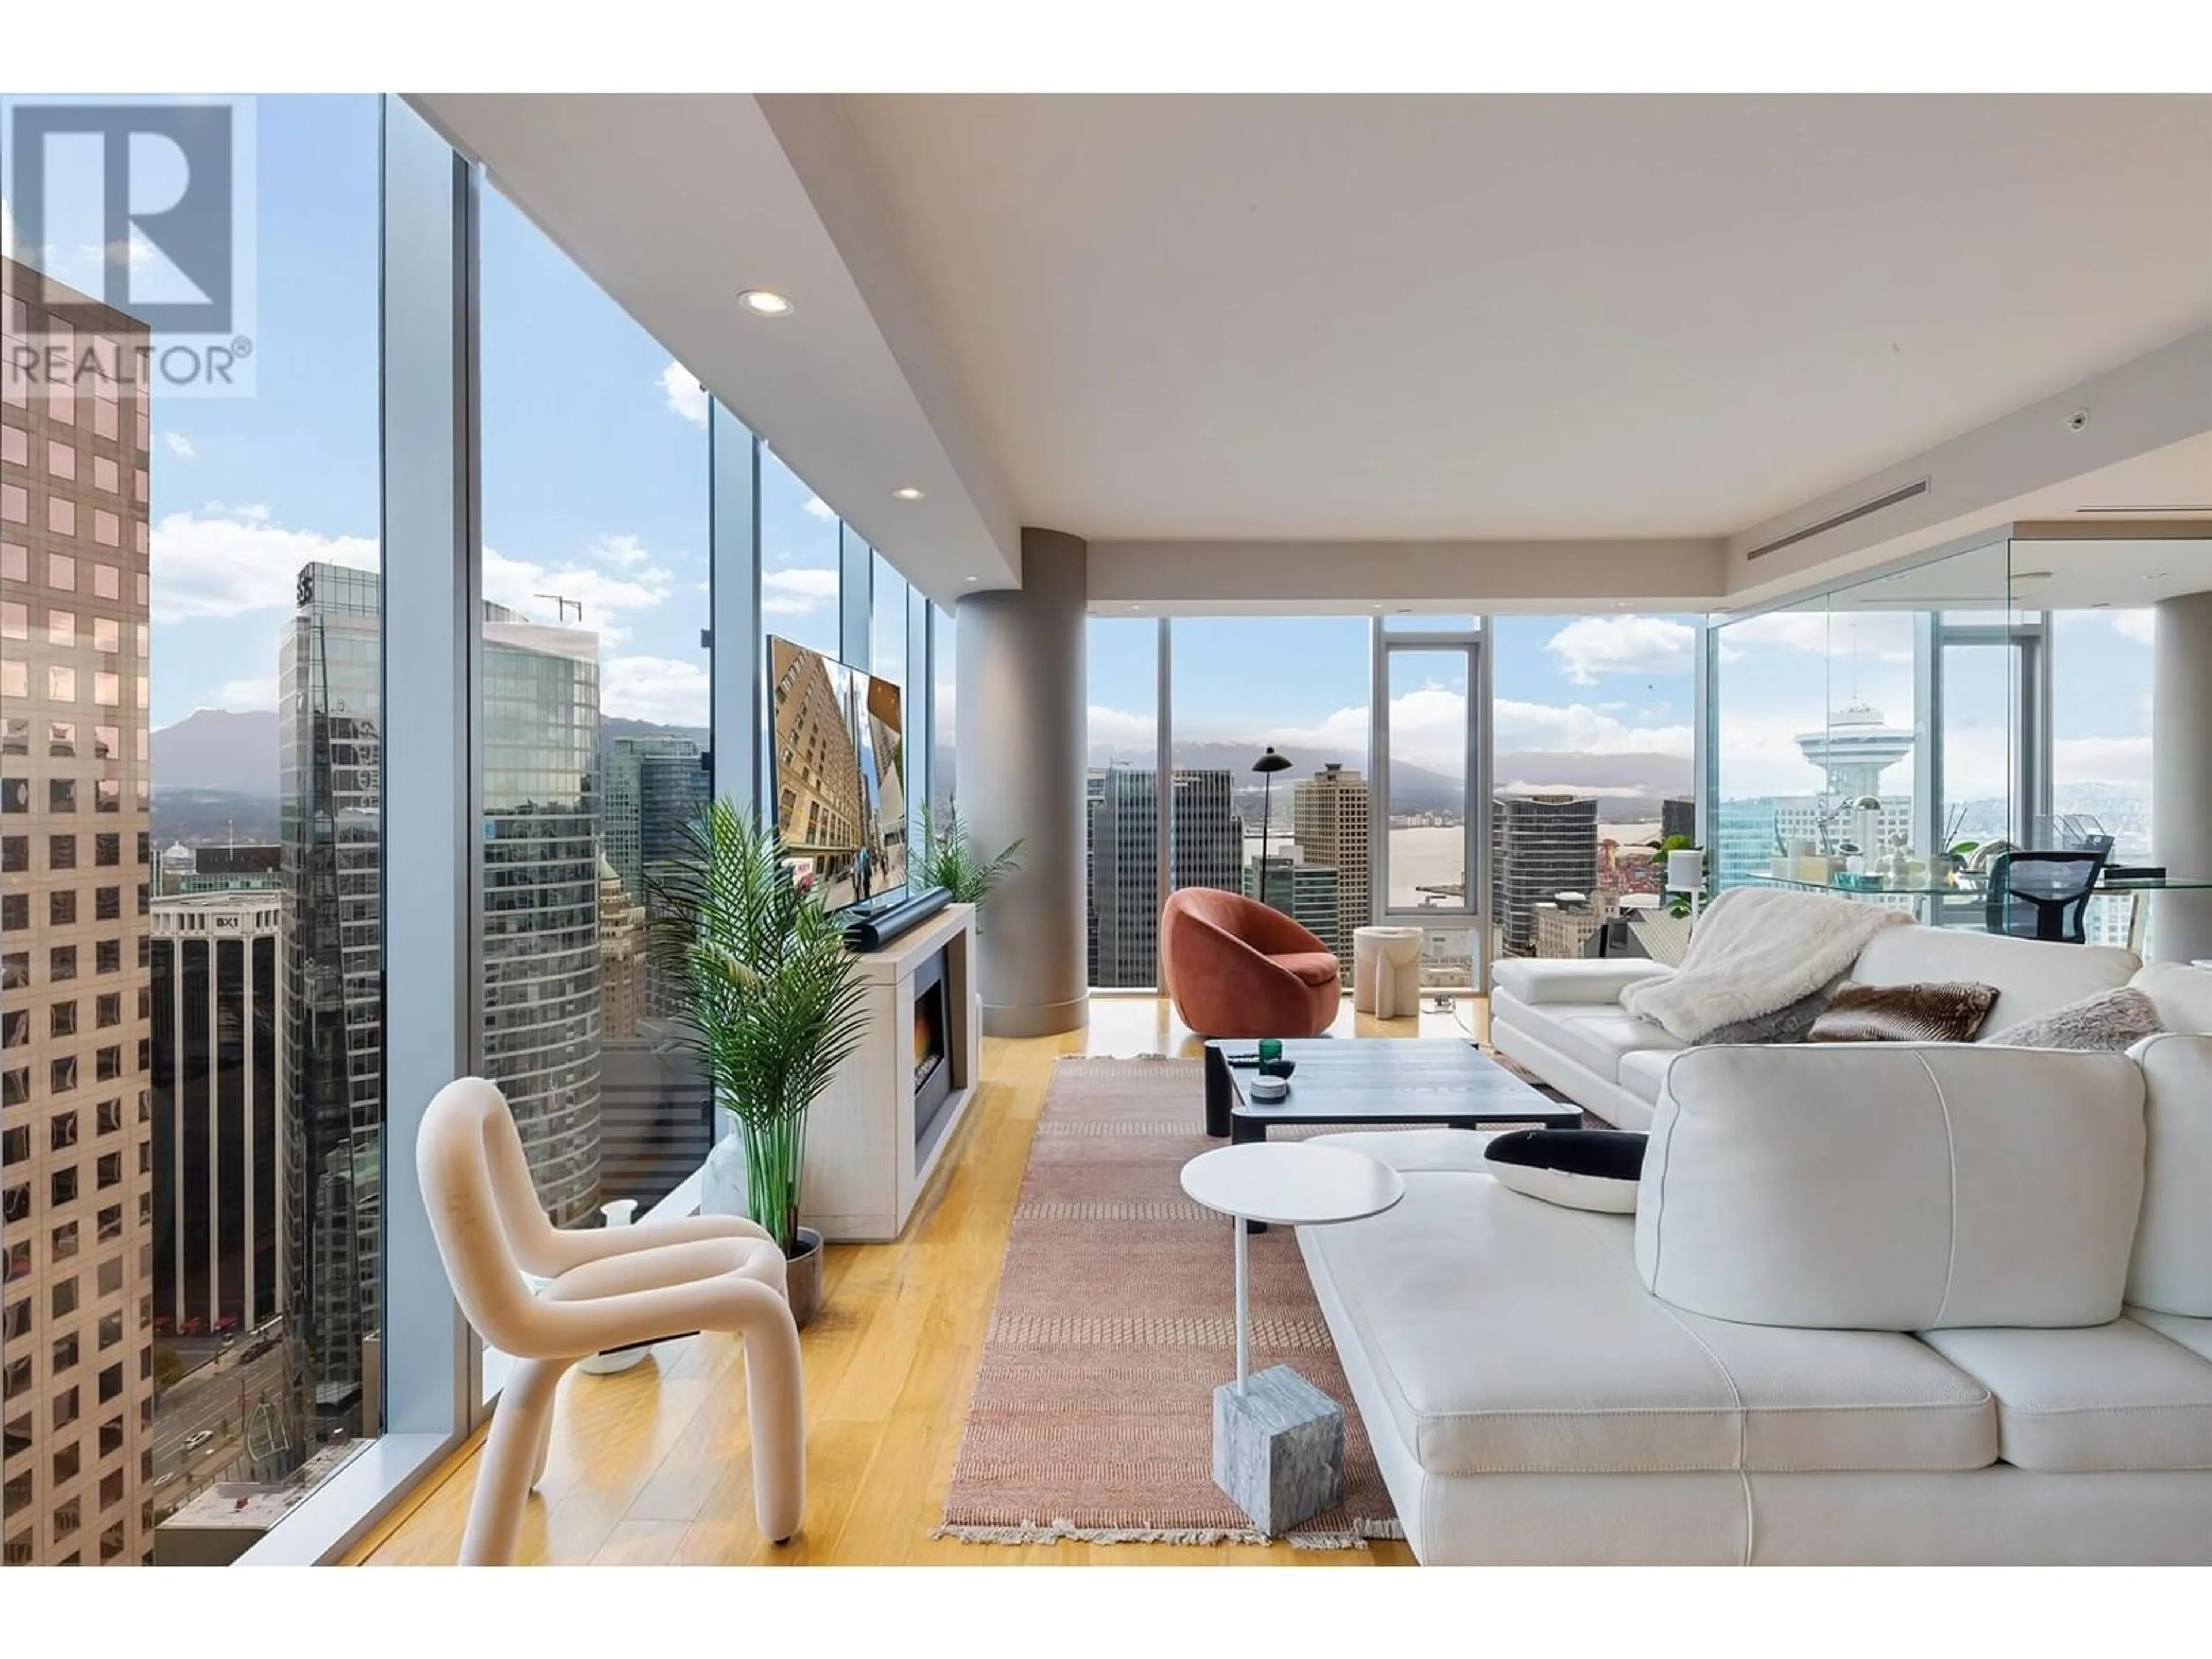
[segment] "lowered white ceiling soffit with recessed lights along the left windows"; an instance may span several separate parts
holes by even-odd
[[[1020,531],[960,409],[907,374],[847,268],[865,195],[838,192],[843,237],[743,95],[416,95],[411,100],[670,356],[933,599],[1020,580]],[[823,148],[823,146],[816,146]],[[827,168],[816,168],[825,175]],[[825,195],[830,195],[825,190]],[[880,288],[880,272],[876,285]],[[763,321],[739,290],[796,305]],[[909,332],[911,334],[911,332]],[[925,394],[936,394],[936,405]],[[896,500],[894,489],[920,489]]]

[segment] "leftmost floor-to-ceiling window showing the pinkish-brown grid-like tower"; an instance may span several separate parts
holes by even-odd
[[[0,283],[9,1564],[378,1427],[378,100],[248,104],[250,383],[144,354],[97,137]]]

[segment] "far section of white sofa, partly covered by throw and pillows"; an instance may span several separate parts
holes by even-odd
[[[1619,1004],[1621,989],[1672,969],[1646,960],[1513,958],[1491,975],[1491,1044],[1619,1128],[1646,1128],[1659,1079],[1683,1046]],[[1980,980],[1997,987],[1984,1040],[2097,991],[2141,984],[2170,1031],[2212,1031],[2212,975],[2143,967],[2104,945],[2044,945],[1944,927],[1885,927],[1858,953],[1863,984]]]

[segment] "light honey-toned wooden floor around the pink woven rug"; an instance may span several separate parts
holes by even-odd
[[[1418,1020],[1354,1015],[1340,1035],[1473,1031],[1484,1009]],[[1029,1137],[1053,1060],[1064,1053],[1197,1053],[1166,1002],[1097,998],[1091,1029],[1066,1037],[987,1040],[982,1093],[907,1234],[830,1245],[827,1303],[805,1332],[807,1511],[799,1537],[768,1544],[752,1520],[750,1447],[737,1338],[664,1343],[615,1376],[562,1383],[553,1453],[522,1522],[518,1559],[566,1566],[653,1564],[1051,1564],[1374,1566],[1411,1562],[1402,1544],[1294,1551],[1287,1544],[1035,1544],[931,1540],[960,1453],[984,1327],[998,1294]],[[476,1486],[476,1436],[387,1517],[352,1564],[451,1562]]]

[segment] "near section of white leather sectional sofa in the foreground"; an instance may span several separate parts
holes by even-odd
[[[1993,1024],[2137,975],[1918,927],[1878,947],[1869,978],[1997,982]],[[1528,1018],[1553,1040],[1524,1064],[1568,1053],[1562,1020],[1613,1033],[1544,971],[1619,969],[1524,967],[1517,1006],[1584,1009]],[[2212,973],[2139,984],[2212,1029]],[[2212,1035],[1652,1064],[1655,1104],[1617,1077],[1599,1104],[1652,1130],[1635,1217],[1498,1186],[1482,1135],[1329,1137],[1407,1177],[1298,1248],[1418,1559],[2212,1564]]]

